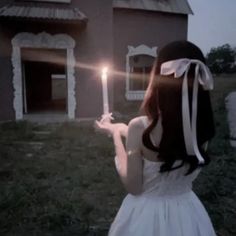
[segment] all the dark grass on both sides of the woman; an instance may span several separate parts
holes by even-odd
[[[236,75],[235,75],[236,76]],[[224,99],[234,76],[215,78],[212,94],[217,135],[194,190],[219,236],[236,235],[236,155],[229,146]],[[127,121],[139,104],[118,112]],[[46,131],[45,133],[39,131]],[[111,139],[91,122],[39,126],[0,125],[0,235],[106,235],[122,198]]]

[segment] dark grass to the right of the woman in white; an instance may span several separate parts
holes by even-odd
[[[236,149],[229,145],[225,98],[236,89],[236,75],[215,77],[212,104],[216,136],[209,146],[212,162],[195,182],[219,236],[236,235]]]

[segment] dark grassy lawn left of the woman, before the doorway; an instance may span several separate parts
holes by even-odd
[[[27,122],[1,126],[0,235],[107,230],[123,193],[110,140],[91,123],[41,126],[52,129],[44,138],[34,134],[38,129]],[[39,140],[42,147],[29,144]]]

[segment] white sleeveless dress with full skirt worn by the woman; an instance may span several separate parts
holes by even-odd
[[[143,158],[143,191],[125,197],[109,236],[216,236],[204,206],[192,191],[200,170],[185,176],[188,167],[183,166],[160,173],[161,165]]]

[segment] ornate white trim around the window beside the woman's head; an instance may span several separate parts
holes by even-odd
[[[136,55],[147,55],[156,58],[157,57],[157,47],[148,47],[144,44],[139,45],[138,47],[128,46],[128,54],[126,55],[126,89],[125,97],[127,100],[143,100],[145,95],[145,90],[131,90],[130,89],[130,57]]]

